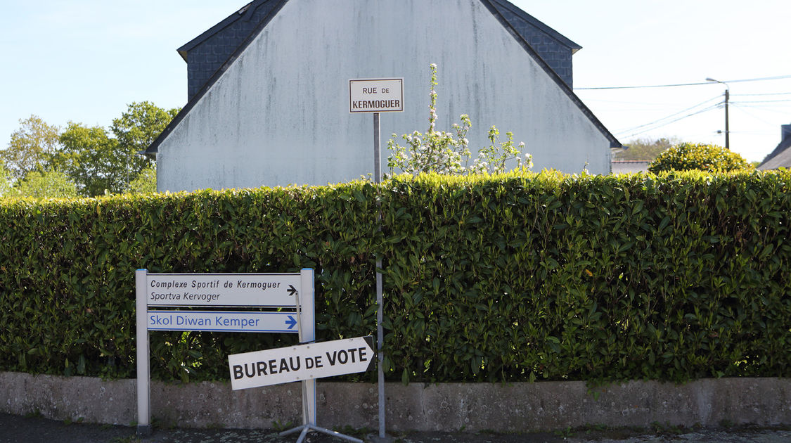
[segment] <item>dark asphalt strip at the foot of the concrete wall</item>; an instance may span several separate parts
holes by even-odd
[[[364,431],[347,434],[375,441]],[[375,432],[374,432],[375,434]],[[375,437],[375,435],[374,435]],[[275,430],[155,429],[149,437],[138,438],[135,428],[86,423],[67,423],[41,417],[0,414],[0,443],[293,443],[297,434],[280,437]],[[310,443],[341,442],[324,434],[308,434]],[[789,443],[791,426],[783,428],[733,428],[730,430],[689,430],[659,426],[651,430],[587,429],[554,433],[491,434],[422,432],[396,434],[393,443]]]

